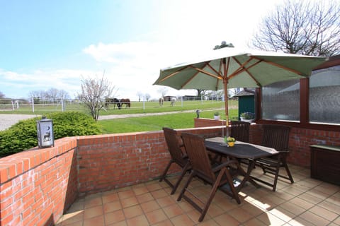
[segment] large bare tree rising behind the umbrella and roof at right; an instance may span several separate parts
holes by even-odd
[[[285,1],[263,18],[252,40],[256,49],[311,56],[340,52],[340,3]]]

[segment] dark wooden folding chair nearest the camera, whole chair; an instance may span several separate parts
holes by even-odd
[[[221,165],[212,168],[207,150],[205,148],[204,138],[190,133],[182,133],[181,136],[186,147],[186,153],[188,154],[192,170],[188,181],[179,195],[179,198],[177,198],[177,201],[181,201],[181,198],[183,197],[194,208],[200,211],[200,218],[198,219],[199,222],[204,219],[217,189],[220,189],[221,191],[225,192],[225,194],[235,198],[237,203],[241,203],[233,184],[232,175],[229,172],[229,169],[235,169],[235,171],[237,171],[239,167],[237,160],[228,160],[227,162],[223,162]],[[203,179],[203,182],[212,185],[208,201],[204,202],[200,200],[200,198],[189,191],[188,185],[191,183],[193,177]],[[226,184],[228,189],[225,189]],[[203,203],[203,208],[201,208],[197,202],[191,200],[191,198],[186,195],[186,191],[194,196],[198,201],[200,201],[200,203]]]

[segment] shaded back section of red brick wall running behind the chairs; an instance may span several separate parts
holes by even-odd
[[[178,131],[220,136],[220,129]],[[159,177],[170,159],[163,131],[84,136],[77,147],[80,196]]]

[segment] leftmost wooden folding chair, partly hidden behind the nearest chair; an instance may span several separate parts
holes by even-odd
[[[166,141],[166,144],[168,145],[168,150],[171,155],[171,160],[169,161],[168,165],[164,169],[162,176],[159,178],[159,182],[162,182],[162,180],[164,180],[164,182],[169,184],[169,186],[171,186],[172,188],[171,190],[171,195],[172,195],[176,192],[176,189],[181,183],[184,175],[189,169],[191,169],[191,167],[188,161],[188,156],[181,149],[181,148],[184,148],[183,143],[181,143],[181,136],[178,136],[174,129],[163,127],[163,131],[164,131],[165,141]],[[172,184],[169,181],[169,179],[166,178],[166,174],[169,171],[169,168],[171,167],[173,163],[176,163],[182,168],[181,174],[179,176],[179,179],[177,179],[176,184]]]

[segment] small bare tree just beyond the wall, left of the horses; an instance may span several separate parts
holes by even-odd
[[[81,80],[81,93],[79,100],[84,102],[84,105],[90,110],[91,116],[98,121],[99,112],[105,106],[106,97],[110,97],[115,86],[104,78],[85,78]]]

